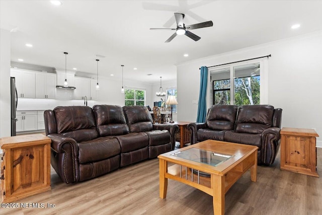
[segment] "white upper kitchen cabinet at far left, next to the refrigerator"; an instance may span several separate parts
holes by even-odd
[[[11,69],[15,77],[18,98],[35,98],[35,73],[21,69]]]

